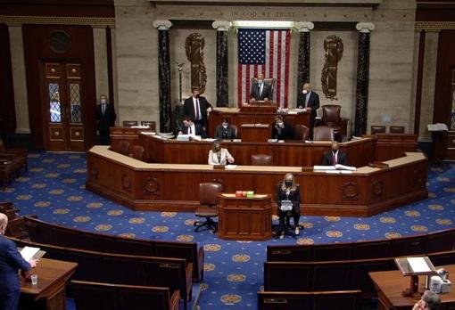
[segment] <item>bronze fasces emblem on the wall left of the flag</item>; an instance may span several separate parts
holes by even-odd
[[[199,93],[205,92],[207,85],[207,73],[203,64],[203,47],[205,39],[203,35],[194,32],[185,41],[186,58],[191,62],[191,89],[199,88]]]

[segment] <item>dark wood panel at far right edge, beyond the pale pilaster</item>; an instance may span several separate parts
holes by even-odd
[[[439,34],[438,63],[434,86],[434,123],[451,124],[451,70],[455,69],[455,30],[442,30]],[[434,145],[435,153],[447,151],[447,140]]]

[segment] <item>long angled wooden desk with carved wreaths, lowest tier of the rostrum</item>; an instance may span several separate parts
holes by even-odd
[[[288,172],[301,185],[305,215],[372,216],[427,198],[425,155],[406,153],[386,163],[388,168],[360,167],[350,175],[280,166],[219,170],[206,164],[148,164],[97,145],[87,152],[86,186],[130,208],[162,211],[194,210],[199,205],[199,183],[203,182],[223,184],[226,192],[251,190],[274,197],[277,183]]]

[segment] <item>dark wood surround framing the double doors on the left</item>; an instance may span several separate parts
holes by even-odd
[[[66,53],[54,53],[49,48],[49,37],[54,30],[63,30],[71,37]],[[40,111],[40,61],[76,61],[82,66],[82,102],[86,147],[95,143],[95,59],[93,29],[89,26],[24,25],[23,40],[27,72],[29,119],[33,146],[44,148],[42,115]]]

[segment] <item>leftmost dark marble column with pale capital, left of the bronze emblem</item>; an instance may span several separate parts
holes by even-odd
[[[158,29],[158,84],[160,97],[160,132],[169,133],[170,127],[170,20],[155,20]]]

